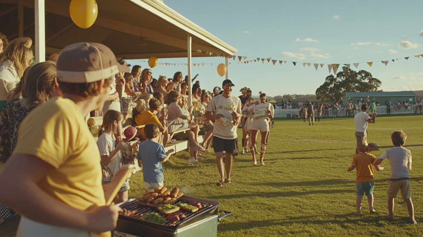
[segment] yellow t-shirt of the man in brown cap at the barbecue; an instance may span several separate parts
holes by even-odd
[[[70,99],[55,97],[22,121],[14,154],[30,154],[54,167],[38,186],[71,207],[105,205],[100,152]]]

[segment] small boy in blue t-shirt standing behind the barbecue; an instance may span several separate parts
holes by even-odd
[[[155,187],[163,186],[162,163],[169,159],[174,150],[170,149],[165,153],[165,148],[158,143],[160,130],[156,124],[146,124],[144,127],[146,141],[140,143],[137,159],[143,161],[143,177],[146,190],[153,190]]]

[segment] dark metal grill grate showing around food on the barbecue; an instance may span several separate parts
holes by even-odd
[[[181,199],[179,199],[173,205],[176,205],[176,204],[179,204],[179,203],[189,204],[190,202],[192,202],[192,201],[187,201],[187,200],[181,200]],[[175,223],[171,223],[170,221],[166,221],[162,225],[165,225],[165,226],[177,226],[177,225],[183,223],[184,221],[190,220],[191,218],[194,218],[195,216],[200,215],[201,213],[203,213],[203,212],[205,212],[205,211],[207,211],[207,210],[212,209],[213,207],[215,207],[215,205],[213,205],[213,204],[207,204],[207,203],[202,203],[202,202],[201,202],[201,205],[203,206],[203,208],[201,208],[200,210],[198,210],[197,212],[194,212],[194,213],[187,212],[187,211],[182,210],[182,209],[179,210],[179,212],[175,212],[175,213],[183,213],[187,218],[182,219],[182,220],[179,220],[178,222],[175,222]],[[149,222],[149,221],[146,221],[146,220],[142,220],[140,218],[143,217],[145,214],[150,213],[150,212],[155,212],[155,213],[161,215],[164,218],[166,218],[166,216],[167,216],[167,215],[162,214],[161,212],[159,212],[156,207],[147,207],[147,206],[144,206],[144,205],[141,205],[141,204],[137,204],[137,199],[135,199],[133,201],[130,201],[130,202],[127,202],[127,203],[124,203],[124,204],[121,204],[120,207],[121,208],[125,208],[127,210],[137,210],[137,213],[135,215],[129,216],[129,218],[135,219],[137,221]],[[155,223],[155,224],[158,224],[158,223]]]

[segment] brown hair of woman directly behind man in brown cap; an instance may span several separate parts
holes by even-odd
[[[56,77],[56,63],[45,61],[37,63],[27,72],[22,84],[22,97],[32,104],[40,104],[50,99]]]

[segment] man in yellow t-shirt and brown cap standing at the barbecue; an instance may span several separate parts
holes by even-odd
[[[0,203],[22,215],[22,237],[89,237],[114,229],[121,209],[105,206],[100,153],[85,116],[102,109],[119,72],[129,68],[103,44],[71,44],[58,56],[63,97],[25,118],[0,174]]]

